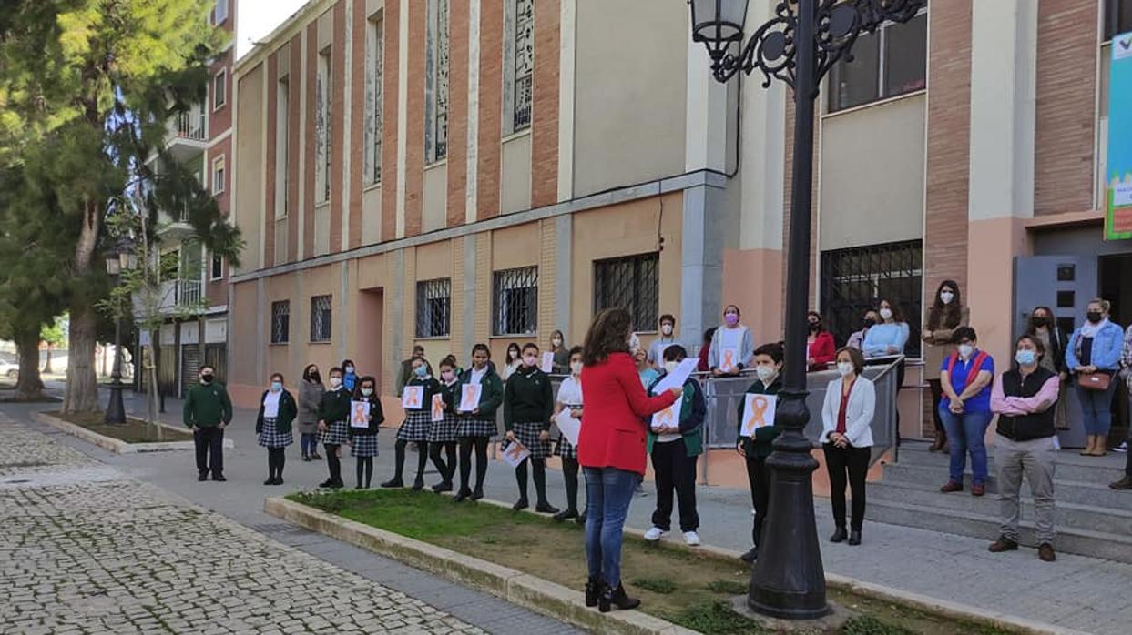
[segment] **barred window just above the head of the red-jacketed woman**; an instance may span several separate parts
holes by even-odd
[[[655,328],[660,310],[660,254],[645,253],[593,263],[593,307],[625,308],[634,329]]]

